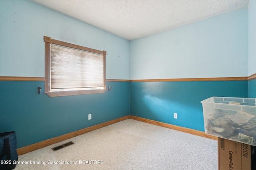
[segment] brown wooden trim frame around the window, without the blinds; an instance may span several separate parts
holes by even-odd
[[[71,95],[79,95],[79,94],[94,94],[94,93],[104,93],[106,89],[106,51],[100,51],[96,49],[91,49],[88,47],[83,47],[80,45],[75,45],[71,43],[66,43],[63,41],[58,41],[55,39],[51,39],[51,37],[44,36],[45,42],[45,92],[50,97],[56,96],[71,96]],[[91,90],[70,90],[70,91],[50,91],[50,44],[61,45],[64,47],[70,47],[74,49],[79,49],[83,51],[88,51],[92,53],[101,54],[103,56],[103,89],[91,89]]]

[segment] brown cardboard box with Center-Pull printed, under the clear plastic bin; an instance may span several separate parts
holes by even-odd
[[[251,170],[251,145],[218,137],[218,170]]]

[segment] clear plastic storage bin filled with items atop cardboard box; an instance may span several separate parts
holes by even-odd
[[[208,135],[256,146],[256,99],[211,97],[203,100]]]

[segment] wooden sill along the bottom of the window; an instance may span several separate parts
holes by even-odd
[[[72,96],[72,95],[80,95],[80,94],[94,94],[94,93],[104,93],[107,89],[93,89],[93,90],[70,90],[70,91],[50,91],[44,92],[48,94],[50,97],[57,96]]]

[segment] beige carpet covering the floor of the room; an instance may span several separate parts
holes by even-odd
[[[55,152],[51,149],[73,141]],[[127,119],[19,156],[15,170],[217,170],[217,141]]]

